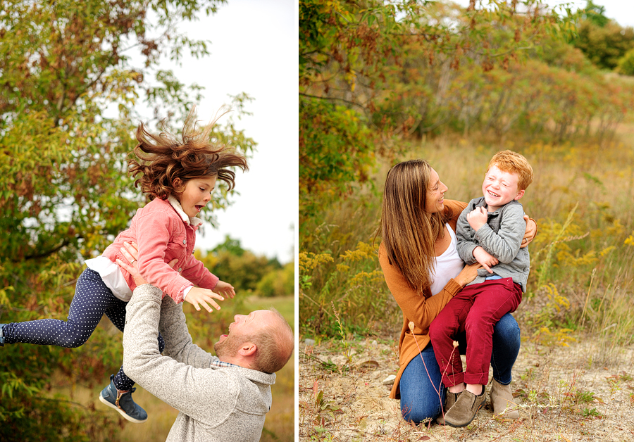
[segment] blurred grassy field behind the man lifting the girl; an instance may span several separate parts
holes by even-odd
[[[294,326],[293,296],[249,298],[245,306],[248,310],[274,307]],[[104,319],[104,321],[107,320]],[[120,337],[121,335],[118,336]],[[292,441],[294,438],[294,364],[292,360],[294,358],[277,373],[275,385],[271,387],[273,404],[271,405],[271,411],[266,415],[261,442],[287,442]],[[106,386],[108,377],[109,373],[103,374],[103,385],[95,380],[97,384],[92,386],[77,384],[74,389],[71,389],[68,379],[58,375],[55,379],[51,379],[51,396],[62,394],[70,398],[73,403],[76,403],[77,407],[95,408],[104,410],[104,413],[117,415],[114,410],[99,402],[99,392]],[[147,411],[149,416],[147,422],[144,424],[132,424],[121,417],[118,419],[118,427],[108,429],[108,431],[118,432],[117,440],[121,442],[165,441],[178,415],[178,411],[155,398],[142,387],[137,385],[136,388],[137,391],[134,394],[134,398]]]

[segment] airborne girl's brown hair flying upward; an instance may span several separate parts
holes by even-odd
[[[189,112],[182,127],[180,139],[166,130],[166,120],[161,122],[162,132],[152,134],[141,123],[136,138],[139,144],[134,153],[139,158],[128,160],[128,174],[135,179],[144,194],[151,200],[167,199],[170,195],[180,196],[189,179],[218,177],[235,187],[235,172],[228,168],[248,170],[247,158],[220,143],[211,144],[213,123],[197,129],[196,114]],[[176,182],[176,179],[180,182]],[[179,185],[180,184],[180,185]]]

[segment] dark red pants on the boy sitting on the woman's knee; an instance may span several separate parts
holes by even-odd
[[[504,278],[466,286],[445,305],[429,327],[442,384],[488,383],[493,326],[506,313],[514,312],[521,301],[521,286],[512,278]],[[458,348],[453,345],[460,331],[466,332],[465,372]]]

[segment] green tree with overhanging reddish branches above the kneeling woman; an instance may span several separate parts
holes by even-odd
[[[366,183],[375,156],[392,155],[397,137],[454,117],[437,99],[461,65],[506,68],[556,26],[573,29],[532,0],[491,9],[300,0],[300,229],[308,233],[306,220]]]

